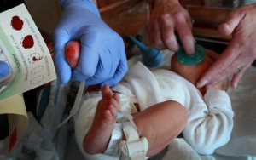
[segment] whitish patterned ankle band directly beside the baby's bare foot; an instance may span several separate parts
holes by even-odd
[[[119,143],[122,140],[122,124],[115,123],[111,138],[108,143],[108,148],[103,154],[118,156],[119,155]]]

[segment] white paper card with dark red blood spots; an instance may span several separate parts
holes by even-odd
[[[10,68],[0,79],[0,101],[56,78],[53,60],[26,6],[0,13],[0,60]]]

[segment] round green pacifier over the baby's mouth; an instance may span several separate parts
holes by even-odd
[[[184,65],[197,65],[206,57],[206,50],[201,45],[195,43],[195,54],[186,54],[183,47],[177,51],[177,60]]]

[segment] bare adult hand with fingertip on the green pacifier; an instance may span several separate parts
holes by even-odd
[[[148,23],[148,39],[156,49],[177,51],[177,31],[187,54],[195,53],[195,41],[191,32],[189,13],[178,0],[154,0]]]

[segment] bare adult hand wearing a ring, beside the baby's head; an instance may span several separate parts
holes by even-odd
[[[236,88],[243,73],[256,59],[256,3],[242,6],[230,13],[218,31],[232,35],[230,44],[197,83],[197,87],[214,85],[232,77],[231,87]]]

